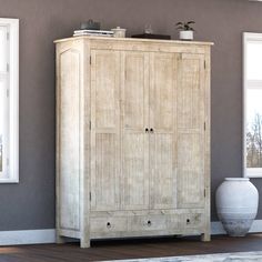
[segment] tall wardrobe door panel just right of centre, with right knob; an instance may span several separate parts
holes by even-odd
[[[151,53],[150,57],[151,209],[177,205],[177,60],[174,53]]]

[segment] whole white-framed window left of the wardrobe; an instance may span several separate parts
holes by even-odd
[[[19,20],[0,18],[0,182],[19,181]]]

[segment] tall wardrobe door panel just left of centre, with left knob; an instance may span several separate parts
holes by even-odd
[[[149,53],[121,54],[122,209],[149,208]]]

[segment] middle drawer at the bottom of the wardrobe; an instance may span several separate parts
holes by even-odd
[[[168,230],[178,228],[178,219],[172,215],[134,216],[131,220],[132,231]]]

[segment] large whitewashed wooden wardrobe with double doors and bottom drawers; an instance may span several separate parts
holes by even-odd
[[[57,43],[57,235],[210,239],[210,46]]]

